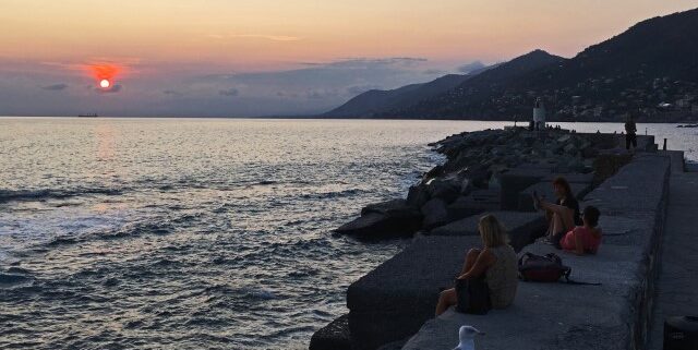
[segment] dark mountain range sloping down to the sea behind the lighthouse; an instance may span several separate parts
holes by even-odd
[[[529,119],[537,97],[550,120],[612,121],[627,112],[640,121],[698,118],[698,9],[642,21],[571,59],[535,50],[372,116]]]

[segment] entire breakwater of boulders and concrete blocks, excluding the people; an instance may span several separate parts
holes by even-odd
[[[477,136],[469,136],[473,134]],[[480,137],[484,140],[481,143],[471,141]],[[525,141],[528,137],[533,140]],[[497,145],[502,142],[500,140],[503,145]],[[437,143],[437,149],[447,155],[448,161],[430,171],[417,188],[428,189],[425,193],[432,197],[426,202],[436,197],[446,203],[446,222],[436,227],[424,225],[429,212],[420,208],[422,221],[419,227],[414,225],[418,233],[412,244],[349,287],[349,314],[316,333],[311,349],[329,346],[390,349],[401,348],[406,342],[406,349],[452,349],[457,343],[457,340],[453,341],[454,337],[457,339],[456,324],[485,328],[489,336],[481,341],[484,349],[510,348],[517,345],[515,339],[521,337],[528,341],[524,348],[641,347],[651,309],[649,295],[652,293],[658,238],[663,227],[670,162],[667,157],[655,153],[657,146],[651,136],[641,137],[641,152],[635,157],[618,148],[622,141],[621,135],[613,134],[570,134],[564,131],[529,134],[522,130],[505,130],[454,135]],[[528,146],[527,142],[531,145]],[[522,147],[524,144],[527,146]],[[575,146],[568,146],[570,144]],[[454,171],[462,170],[454,167],[454,161],[464,159],[465,149],[473,153],[471,148],[481,147],[483,156],[474,157],[473,162],[482,162],[483,159],[498,157],[496,146],[504,146],[501,148],[507,150],[507,145],[518,148],[520,158],[510,158],[510,164],[505,159],[504,166],[502,161],[492,161],[483,171],[486,176],[483,180],[486,181],[472,181],[468,176],[458,179],[460,191],[466,185],[473,185],[466,194],[460,192],[453,202],[441,194],[434,196],[441,192],[429,190],[434,181],[443,183],[444,179],[454,178]],[[551,149],[551,146],[561,147]],[[532,154],[540,156],[531,157]],[[581,166],[570,167],[573,161]],[[461,166],[472,167],[468,161]],[[495,171],[493,167],[500,167],[500,170]],[[575,170],[578,172],[573,172]],[[518,250],[534,253],[550,250],[550,246],[533,243],[533,237],[544,228],[544,221],[530,213],[530,203],[526,200],[530,198],[528,192],[531,189],[540,189],[541,192],[550,188],[550,180],[556,174],[571,179],[573,190],[585,198],[582,206],[593,204],[602,210],[601,226],[609,233],[604,238],[603,251],[592,257],[567,254],[563,257],[573,266],[576,278],[601,281],[603,286],[594,289],[521,283],[515,304],[507,310],[491,312],[486,316],[449,311],[430,321],[440,287],[450,286],[465,252],[480,245],[474,222],[482,212],[495,212],[502,218]],[[450,181],[452,184],[455,182]],[[410,191],[411,196],[405,200],[405,205],[410,205],[409,200],[417,191],[421,190]],[[467,197],[472,200],[473,195],[482,193],[478,191],[488,191],[489,196],[472,202],[486,203],[486,206],[471,207],[472,212],[465,218],[452,216],[456,213],[448,210],[453,203],[465,202]],[[363,212],[364,215],[371,213]],[[384,218],[389,217],[387,210],[380,214]],[[365,232],[360,234],[365,237]],[[590,298],[575,307],[575,303],[579,303],[579,294]],[[544,330],[537,331],[538,328]]]

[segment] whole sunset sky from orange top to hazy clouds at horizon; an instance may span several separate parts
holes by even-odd
[[[573,57],[695,0],[2,0],[0,114],[321,112],[537,48]],[[97,68],[97,69],[96,69]],[[109,73],[99,87],[97,71]],[[111,76],[113,75],[113,76]]]

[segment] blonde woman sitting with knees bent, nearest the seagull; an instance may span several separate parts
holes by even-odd
[[[508,244],[506,230],[493,215],[480,218],[478,230],[484,248],[471,249],[468,252],[462,270],[457,278],[484,277],[492,307],[504,309],[514,302],[516,295],[518,282],[516,253]],[[436,304],[436,316],[457,303],[458,295],[455,288],[442,291]]]

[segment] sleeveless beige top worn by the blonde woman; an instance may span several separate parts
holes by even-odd
[[[493,309],[504,309],[514,302],[518,283],[516,252],[509,244],[488,248],[497,261],[485,271]]]

